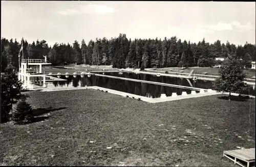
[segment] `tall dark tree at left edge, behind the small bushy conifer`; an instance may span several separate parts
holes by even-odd
[[[28,97],[28,95],[21,93],[22,82],[18,80],[16,73],[17,70],[10,63],[1,78],[1,122],[10,118],[9,113],[12,112],[12,105],[17,103],[17,100]]]

